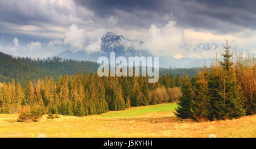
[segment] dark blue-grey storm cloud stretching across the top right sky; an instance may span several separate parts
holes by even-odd
[[[237,32],[241,27],[256,29],[256,1],[253,0],[74,1],[77,5],[96,12],[101,18],[116,16],[119,24],[127,26],[148,27],[152,23],[167,23],[169,17],[183,27],[216,32]]]

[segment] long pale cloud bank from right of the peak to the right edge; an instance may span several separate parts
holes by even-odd
[[[230,45],[238,46],[241,51],[251,54],[255,52],[256,31],[243,28],[241,32],[214,34],[209,31],[195,31],[176,26],[170,21],[164,27],[151,25],[140,49],[146,49],[154,56],[172,56],[174,58],[213,58],[220,55],[221,47],[228,39]],[[217,43],[220,48],[210,50],[189,50],[181,48],[183,44],[197,45],[204,43]]]

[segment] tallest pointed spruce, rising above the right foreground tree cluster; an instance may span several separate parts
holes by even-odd
[[[241,87],[236,79],[236,74],[233,69],[233,62],[230,60],[232,54],[230,54],[230,46],[226,41],[225,53],[222,54],[223,58],[220,61],[220,70],[218,72],[219,80],[217,90],[217,97],[210,97],[213,103],[213,119],[225,120],[227,118],[238,118],[245,115],[245,109],[243,108],[243,100],[241,94]],[[212,88],[212,87],[210,87]]]

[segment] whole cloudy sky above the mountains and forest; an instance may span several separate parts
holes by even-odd
[[[154,55],[180,56],[184,43],[225,39],[253,53],[255,6],[253,0],[0,0],[0,51],[29,57],[98,52],[94,45],[112,31],[142,40]]]

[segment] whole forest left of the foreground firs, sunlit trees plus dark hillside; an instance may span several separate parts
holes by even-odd
[[[44,113],[84,116],[174,102],[181,95],[178,72],[185,73],[185,69],[165,71],[158,83],[147,83],[148,78],[141,76],[100,78],[94,62],[0,56],[1,113],[36,106]]]

